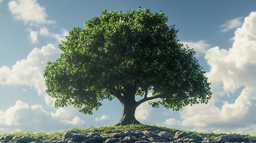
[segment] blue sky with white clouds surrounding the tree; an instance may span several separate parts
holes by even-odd
[[[60,56],[58,44],[73,27],[83,27],[104,10],[125,12],[140,6],[168,16],[180,42],[195,49],[213,94],[208,104],[180,111],[145,102],[135,117],[147,125],[256,135],[255,5],[254,0],[0,0],[0,133],[118,123],[118,100],[104,100],[91,116],[72,106],[55,108],[54,99],[45,94],[42,73],[48,61]]]

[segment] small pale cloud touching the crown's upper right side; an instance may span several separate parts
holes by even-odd
[[[198,42],[192,42],[192,41],[181,41],[184,46],[189,46],[189,48],[193,48],[196,51],[196,57],[198,57],[200,54],[205,54],[206,50],[210,48],[209,43],[206,43],[206,41],[198,41]]]

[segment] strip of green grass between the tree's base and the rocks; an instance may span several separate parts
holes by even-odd
[[[159,129],[159,130],[171,130],[171,131],[180,131],[180,132],[186,132],[185,130],[177,130],[177,129],[172,129],[172,128],[166,128],[166,127],[162,127],[162,126],[156,126],[156,125],[127,125],[127,126],[115,126],[115,125],[109,125],[109,126],[98,126],[95,128],[88,128],[88,129],[69,129],[69,130],[74,130],[77,131],[79,133],[89,133],[89,132],[100,132],[100,133],[110,133],[110,132],[118,132],[119,130],[136,130],[136,129]],[[30,136],[31,138],[37,138],[39,136],[42,136],[45,139],[54,139],[54,138],[59,138],[61,136],[63,136],[64,132],[66,132],[67,130],[63,130],[60,132],[54,132],[54,133],[42,133],[42,132],[38,132],[38,133],[34,133],[34,132],[14,132],[14,133],[3,133],[0,134],[1,136],[17,136],[18,138],[21,138],[22,136]],[[228,133],[198,133],[198,132],[187,132],[187,133],[193,133],[195,135],[198,136],[208,136],[211,138],[216,138],[217,136],[221,136],[221,135],[230,135]],[[231,133],[231,134],[235,134],[235,133]],[[237,133],[236,133],[237,134]],[[243,134],[239,134],[239,135],[243,135]],[[251,139],[256,139],[256,135],[243,135],[247,138],[251,138]]]

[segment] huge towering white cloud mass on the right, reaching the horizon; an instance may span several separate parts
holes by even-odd
[[[232,48],[216,46],[206,51],[205,59],[211,69],[206,76],[212,83],[213,98],[206,105],[185,107],[180,113],[181,125],[255,134],[252,128],[256,126],[255,55],[256,13],[253,12],[236,30]],[[236,100],[228,102],[227,98]]]

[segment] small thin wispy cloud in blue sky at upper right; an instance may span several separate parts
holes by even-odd
[[[242,26],[243,22],[243,17],[238,17],[229,21],[226,21],[224,24],[222,24],[221,27],[221,32],[227,32],[232,29],[237,29],[238,27]]]

